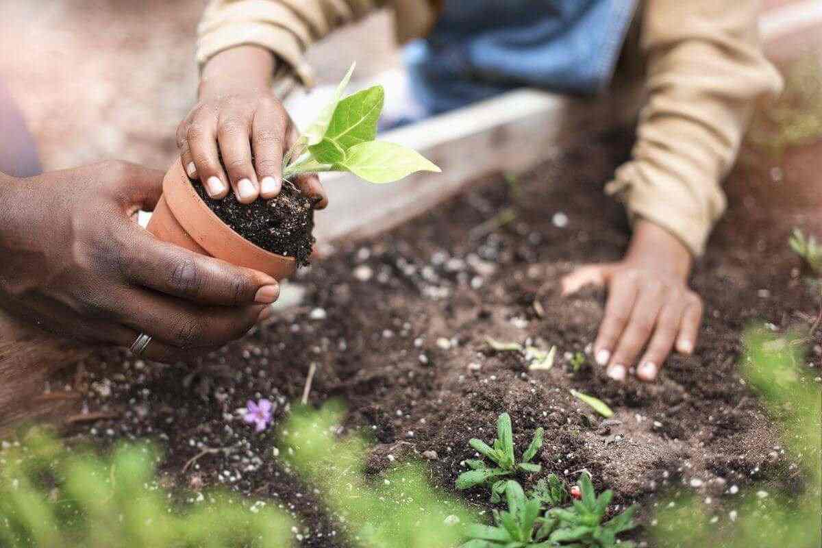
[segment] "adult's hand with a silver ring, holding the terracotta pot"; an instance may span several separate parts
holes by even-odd
[[[0,173],[0,306],[90,343],[154,338],[147,357],[219,347],[279,294],[275,279],[160,242],[137,225],[163,174],[107,162],[19,179]]]

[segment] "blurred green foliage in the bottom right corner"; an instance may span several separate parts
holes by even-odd
[[[822,546],[822,393],[797,365],[805,355],[797,340],[750,330],[741,371],[782,428],[783,448],[801,467],[803,491],[752,486],[721,523],[695,498],[663,504],[653,528],[660,548]]]

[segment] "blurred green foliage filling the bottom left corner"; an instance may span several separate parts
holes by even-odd
[[[173,507],[155,479],[156,460],[149,446],[123,445],[100,458],[32,431],[0,453],[0,546],[289,546],[290,518],[222,491]]]

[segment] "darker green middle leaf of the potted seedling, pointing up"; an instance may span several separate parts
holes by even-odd
[[[376,122],[385,97],[382,86],[375,85],[340,101],[322,140],[308,147],[314,158],[322,163],[341,165],[351,147],[376,139]]]

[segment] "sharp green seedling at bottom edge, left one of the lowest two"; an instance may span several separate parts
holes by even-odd
[[[541,517],[542,502],[525,496],[516,481],[506,481],[507,512],[494,511],[494,525],[474,523],[465,528],[471,540],[462,548],[548,548],[555,518]]]

